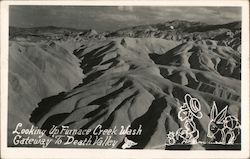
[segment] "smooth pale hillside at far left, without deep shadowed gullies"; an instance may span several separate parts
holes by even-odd
[[[45,97],[68,91],[84,77],[79,60],[53,42],[11,41],[9,46],[8,124],[29,126],[29,114]]]

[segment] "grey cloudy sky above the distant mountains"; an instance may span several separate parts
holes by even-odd
[[[241,20],[240,7],[10,6],[9,25],[58,26],[114,31],[171,20],[223,24]]]

